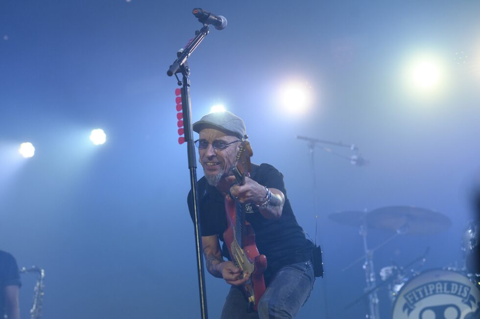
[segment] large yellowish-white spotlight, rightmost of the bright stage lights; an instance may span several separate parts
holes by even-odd
[[[432,54],[422,54],[412,59],[407,72],[409,86],[421,93],[434,93],[445,81],[444,63]]]

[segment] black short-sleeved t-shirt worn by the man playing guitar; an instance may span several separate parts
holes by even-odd
[[[270,276],[283,266],[310,260],[314,245],[305,238],[288,201],[283,175],[269,164],[252,164],[250,178],[261,185],[281,190],[285,195],[282,215],[278,219],[266,219],[258,208],[251,204],[251,213],[246,220],[255,231],[255,242],[261,254],[267,259],[265,276]],[[218,189],[207,183],[205,177],[197,182],[198,207],[202,236],[218,235],[224,242],[223,232],[227,228],[225,201]],[[192,191],[188,196],[190,215],[193,220]],[[247,209],[248,211],[248,209]],[[230,260],[225,243],[222,253]]]

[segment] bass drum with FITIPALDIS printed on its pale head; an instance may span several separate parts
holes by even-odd
[[[480,319],[480,290],[466,276],[430,270],[399,291],[393,319]]]

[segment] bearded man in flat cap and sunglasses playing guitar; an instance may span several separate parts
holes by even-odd
[[[305,238],[293,215],[283,175],[269,164],[252,163],[250,177],[245,177],[244,184],[235,182],[232,168],[236,166],[240,145],[247,138],[245,124],[235,114],[207,114],[193,124],[193,131],[199,133],[195,146],[204,172],[197,182],[197,193],[205,266],[209,273],[232,285],[221,318],[293,318],[310,296],[315,275],[323,274],[323,270],[320,273],[321,261],[315,258],[319,249]],[[266,290],[257,301],[258,312],[252,310],[242,293],[241,287],[249,276],[230,261],[223,238],[228,227],[224,202],[229,194],[242,204],[250,204],[245,219],[255,231],[260,254],[267,259]],[[193,219],[192,191],[188,204]],[[315,274],[312,260],[318,268]]]

